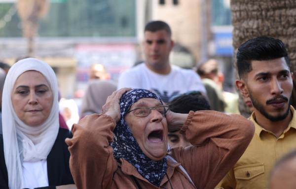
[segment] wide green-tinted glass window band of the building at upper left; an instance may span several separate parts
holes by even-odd
[[[40,37],[135,37],[136,0],[51,0],[40,22]],[[56,3],[53,3],[56,2]],[[0,3],[0,19],[13,3]],[[0,37],[22,37],[17,14]]]

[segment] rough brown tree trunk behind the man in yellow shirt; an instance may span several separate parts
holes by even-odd
[[[231,0],[233,24],[234,67],[236,52],[245,41],[260,36],[278,38],[287,48],[291,71],[296,71],[296,0]],[[236,78],[238,74],[236,72]],[[296,107],[296,77],[292,105]],[[239,92],[240,93],[240,92]],[[251,115],[242,98],[239,100],[242,115]]]

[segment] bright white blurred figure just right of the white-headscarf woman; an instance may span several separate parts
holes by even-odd
[[[67,127],[71,130],[74,123],[78,123],[78,107],[73,99],[62,98],[59,102],[60,113],[66,121]]]

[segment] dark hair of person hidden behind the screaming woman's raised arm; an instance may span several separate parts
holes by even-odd
[[[174,113],[189,113],[190,111],[211,110],[211,106],[202,95],[181,95],[168,103]]]

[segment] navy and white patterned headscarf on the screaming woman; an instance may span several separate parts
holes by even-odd
[[[142,177],[146,178],[154,186],[159,187],[167,170],[166,159],[154,161],[147,157],[124,120],[124,114],[135,102],[142,98],[155,98],[161,102],[158,96],[145,89],[132,89],[123,94],[120,99],[121,118],[113,131],[114,140],[111,147],[113,148],[114,158],[121,157],[128,161],[138,170]]]

